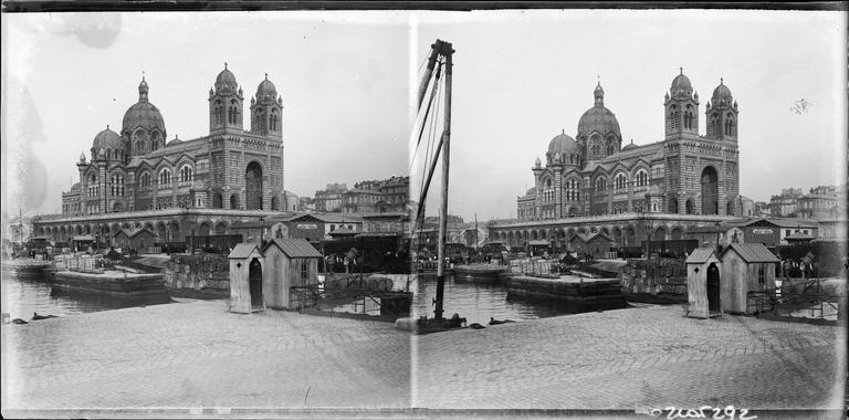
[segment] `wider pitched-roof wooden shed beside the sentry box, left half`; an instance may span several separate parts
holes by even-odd
[[[263,285],[265,304],[273,308],[295,308],[292,287],[318,284],[322,254],[303,238],[272,239],[264,250],[266,270]]]

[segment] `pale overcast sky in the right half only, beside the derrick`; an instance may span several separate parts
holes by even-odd
[[[528,11],[419,19],[418,55],[453,43],[451,212],[515,217],[551,139],[575,137],[597,76],[623,145],[663,139],[663,95],[683,67],[704,105],[723,77],[740,105],[740,189],[846,179],[846,13]],[[439,22],[439,23],[436,23]],[[807,112],[790,111],[796,101]],[[433,208],[433,206],[431,206]]]

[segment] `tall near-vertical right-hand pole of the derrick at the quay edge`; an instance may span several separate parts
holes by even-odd
[[[446,120],[442,130],[442,203],[440,206],[439,220],[439,242],[437,243],[437,302],[433,309],[433,317],[442,319],[442,295],[446,290],[446,233],[448,231],[448,176],[450,160],[450,139],[451,139],[451,75],[453,50],[448,42],[437,40],[437,48],[442,50],[446,56]]]

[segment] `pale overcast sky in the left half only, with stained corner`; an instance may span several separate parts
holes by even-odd
[[[14,171],[3,178],[3,211],[17,213],[18,202],[61,210],[62,191],[78,181],[80,153],[91,158],[107,124],[120,129],[143,71],[168,139],[209,134],[209,88],[224,62],[245,105],[266,72],[283,98],[287,190],[313,196],[328,182],[408,171],[407,13],[2,18],[3,158],[8,147],[24,169],[21,182]]]

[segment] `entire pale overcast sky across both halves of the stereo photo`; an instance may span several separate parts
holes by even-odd
[[[230,70],[283,97],[285,187],[408,171],[410,92],[437,38],[454,55],[450,212],[515,217],[531,167],[575,136],[600,76],[623,143],[662,139],[679,67],[704,104],[740,104],[741,192],[845,179],[846,14],[778,11],[2,14],[3,211],[55,212],[145,71],[168,137],[208,134],[208,91]],[[412,86],[412,90],[410,88]],[[797,101],[809,104],[797,114]],[[7,165],[7,164],[12,165]],[[20,170],[19,170],[20,169]],[[439,182],[439,179],[434,179]],[[430,207],[436,210],[436,206]],[[429,211],[430,212],[430,211]]]

